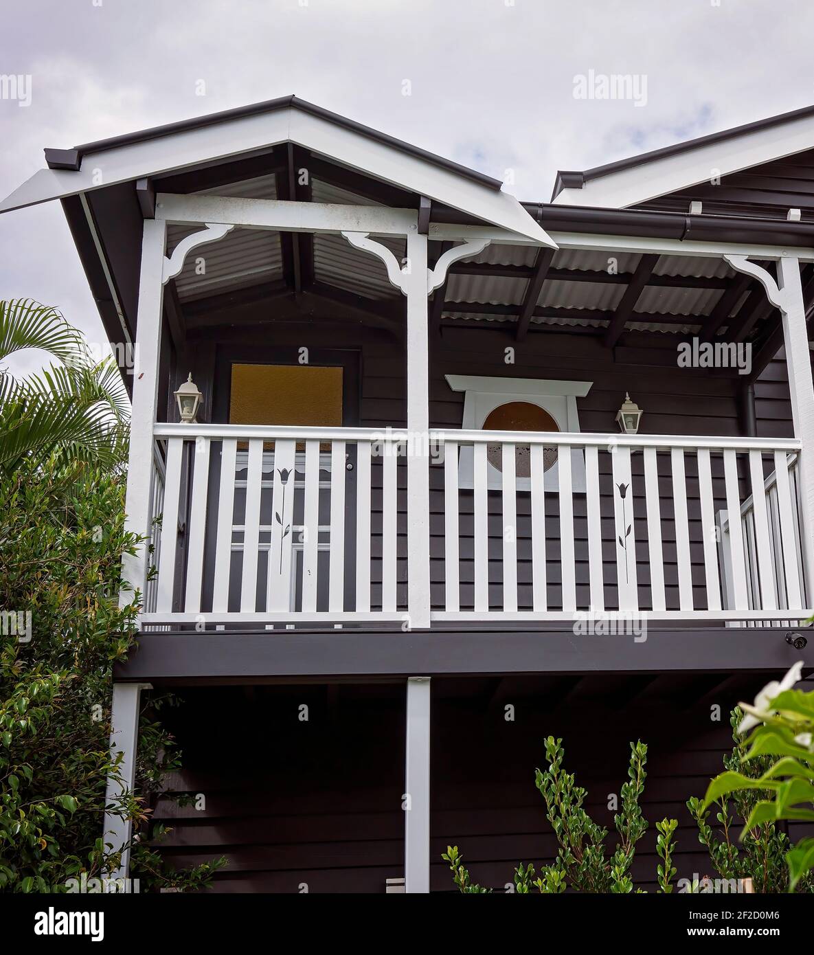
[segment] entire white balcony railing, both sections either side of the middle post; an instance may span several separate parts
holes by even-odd
[[[165,424],[155,434],[166,477],[145,626],[403,624],[404,465],[416,453],[429,468],[419,558],[434,622],[810,612],[789,470],[797,440],[448,431],[413,443],[365,428]]]

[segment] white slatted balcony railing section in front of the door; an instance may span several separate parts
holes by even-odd
[[[155,433],[166,484],[144,624],[404,619],[406,449],[396,436],[228,425]]]

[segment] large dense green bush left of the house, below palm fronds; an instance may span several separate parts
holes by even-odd
[[[124,528],[122,477],[66,464],[64,456],[61,461],[34,466],[24,459],[0,479],[5,891],[64,892],[67,880],[82,873],[97,878],[117,861],[102,838],[106,778],[116,772],[109,750],[111,672],[133,644],[139,595],[120,607],[119,587],[121,556],[139,541]],[[148,720],[139,743],[139,785],[155,790],[176,764],[172,739]],[[117,811],[144,831],[143,797],[128,796]],[[132,874],[142,889],[198,886],[218,864],[176,875],[146,842],[136,842]]]

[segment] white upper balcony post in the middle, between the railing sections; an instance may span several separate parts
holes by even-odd
[[[407,611],[429,626],[429,359],[427,236],[407,233]],[[409,891],[409,890],[407,890]]]

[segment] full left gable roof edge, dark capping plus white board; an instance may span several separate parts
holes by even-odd
[[[2,203],[0,213],[122,182],[164,176],[293,142],[378,180],[449,205],[532,241],[554,246],[501,183],[296,96],[138,133],[46,150],[41,169]]]

